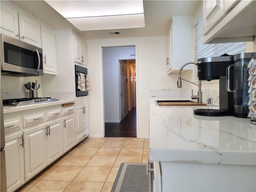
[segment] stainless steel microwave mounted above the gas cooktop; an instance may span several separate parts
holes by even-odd
[[[18,39],[0,34],[1,74],[6,76],[44,75],[43,50]]]

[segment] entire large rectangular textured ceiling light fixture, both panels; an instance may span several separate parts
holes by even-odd
[[[81,31],[145,27],[142,0],[45,0]]]

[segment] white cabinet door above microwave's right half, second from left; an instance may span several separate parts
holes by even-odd
[[[42,47],[40,24],[27,16],[19,13],[20,40]]]

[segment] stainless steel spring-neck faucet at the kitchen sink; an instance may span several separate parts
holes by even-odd
[[[188,64],[197,65],[197,63],[195,63],[195,62],[188,62],[188,63],[185,63],[185,64],[182,65],[182,67],[180,68],[180,74],[181,74],[181,70],[183,70],[183,68],[184,68],[186,65],[188,65]],[[181,88],[181,87],[182,87],[181,79],[184,80],[184,81],[187,81],[187,82],[189,82],[189,83],[195,84],[195,83],[193,83],[193,82],[191,82],[191,81],[188,81],[188,80],[186,80],[186,79],[181,78],[180,74],[179,74],[178,81],[177,81],[177,87],[178,87],[178,88]],[[197,95],[193,95],[193,89],[192,89],[191,99],[197,99],[197,102],[198,102],[198,103],[203,103],[203,101],[202,101],[202,94],[203,94],[203,93],[202,93],[202,83],[201,83],[201,80],[198,80],[198,84],[195,84],[195,85],[198,86],[198,92],[197,92]]]

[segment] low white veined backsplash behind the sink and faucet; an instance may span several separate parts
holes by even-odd
[[[197,94],[198,89],[193,89]],[[219,105],[219,89],[202,89],[203,102],[207,102],[208,97],[212,97],[213,104]],[[191,97],[191,89],[151,89],[150,96],[183,96]]]

